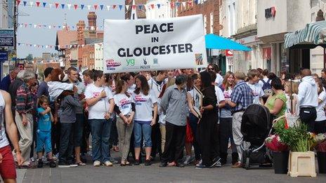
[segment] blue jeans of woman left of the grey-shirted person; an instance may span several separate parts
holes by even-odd
[[[152,133],[152,126],[148,123],[133,123],[133,135],[135,136],[135,147],[141,147],[141,136],[143,133],[143,142],[145,147],[152,147],[152,139],[150,137]]]

